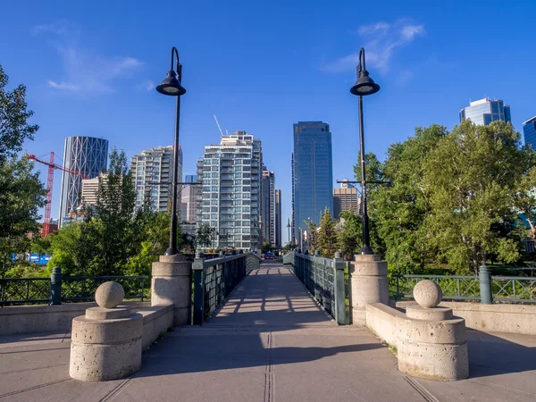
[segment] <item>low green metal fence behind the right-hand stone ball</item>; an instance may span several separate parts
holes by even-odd
[[[415,284],[423,280],[434,281],[440,285],[446,300],[536,303],[536,278],[491,276],[488,270],[484,271],[483,275],[481,272],[480,276],[391,275],[389,293],[395,299],[413,298]]]

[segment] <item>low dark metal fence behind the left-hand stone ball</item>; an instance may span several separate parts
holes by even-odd
[[[62,302],[95,300],[95,291],[106,281],[116,281],[125,290],[125,298],[148,297],[147,276],[62,276],[54,268],[51,278],[0,279],[0,306],[60,305]]]

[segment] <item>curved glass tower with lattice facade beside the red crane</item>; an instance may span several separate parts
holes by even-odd
[[[106,170],[108,140],[95,137],[67,137],[63,153],[63,168],[96,178]],[[80,204],[79,195],[82,178],[63,172],[62,197],[60,204],[60,226],[64,218],[74,213]]]

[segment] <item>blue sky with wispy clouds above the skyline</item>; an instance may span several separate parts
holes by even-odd
[[[364,99],[365,147],[382,159],[415,126],[451,129],[458,111],[484,96],[510,105],[522,130],[536,114],[533,15],[536,4],[527,1],[11,0],[0,13],[0,63],[10,87],[28,87],[41,127],[25,144],[29,153],[63,157],[65,137],[88,135],[130,156],[172,144],[174,102],[154,86],[177,46],[188,90],[183,173],[195,173],[203,146],[219,141],[214,114],[223,130],[253,133],[282,190],[284,226],[293,122],[328,121],[333,180],[352,175],[358,126],[349,88],[361,46],[381,84]],[[53,217],[60,188],[56,172]]]

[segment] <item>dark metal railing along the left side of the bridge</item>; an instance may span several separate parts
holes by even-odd
[[[214,314],[239,282],[259,265],[260,258],[252,253],[221,255],[209,260],[201,254],[196,255],[192,266],[194,325],[201,325]]]

